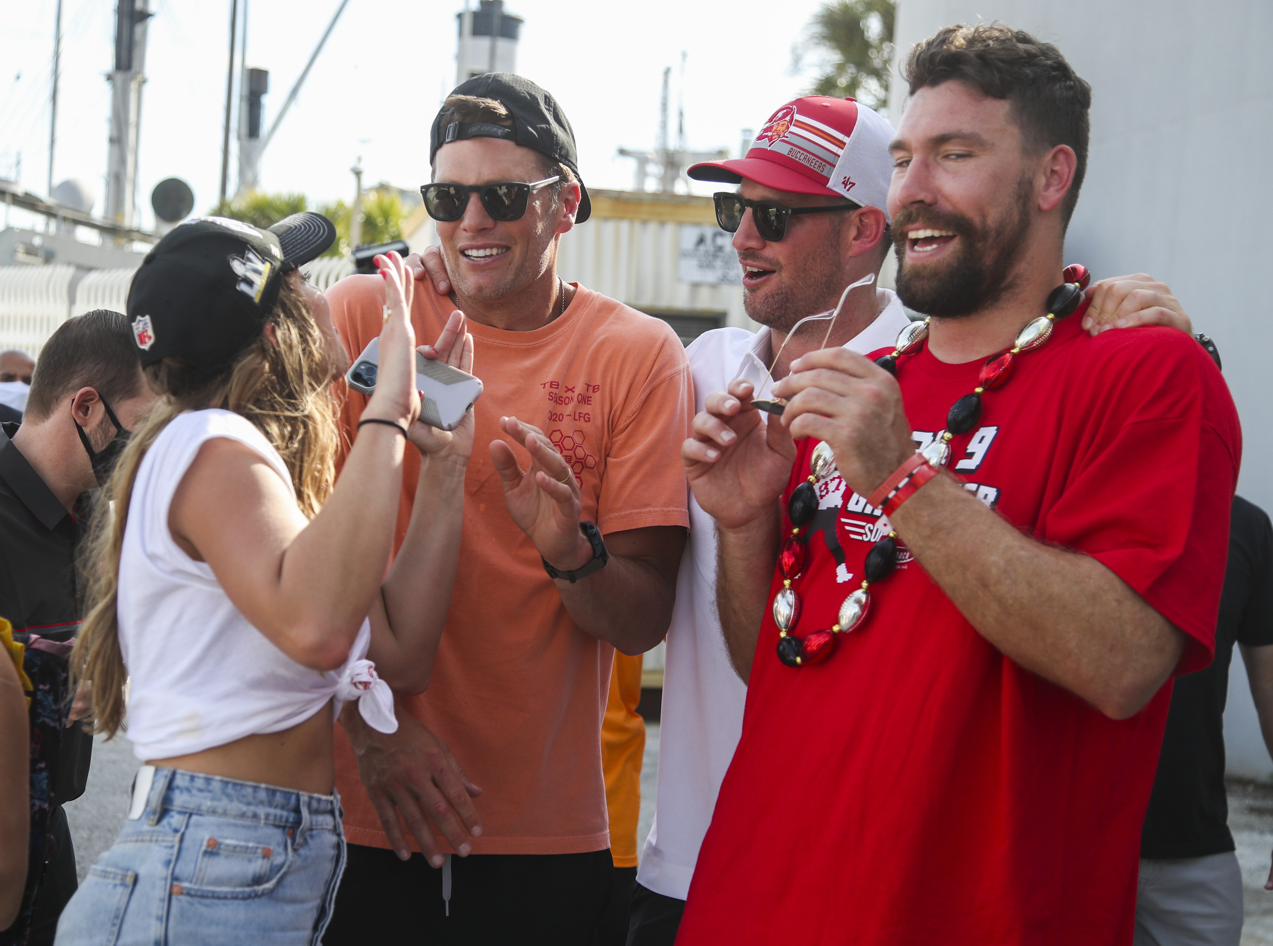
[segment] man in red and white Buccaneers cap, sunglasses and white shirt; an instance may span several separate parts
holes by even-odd
[[[765,122],[746,158],[690,168],[696,180],[738,185],[715,195],[717,219],[733,233],[747,314],[764,326],[755,335],[717,328],[690,344],[696,410],[740,374],[761,385],[773,365],[773,378],[784,377],[792,358],[817,348],[829,325],[819,320],[793,332],[796,323],[829,312],[845,286],[880,272],[889,247],[891,138],[887,121],[852,99],[798,98]],[[872,351],[906,322],[897,297],[868,281],[848,294],[827,345]],[[820,513],[834,542],[835,509]],[[742,727],[747,688],[740,672],[755,649],[754,635],[750,643],[727,638],[728,651],[721,646],[715,530],[693,499],[690,523],[667,634],[658,801],[633,890],[629,946],[671,946],[676,938]]]

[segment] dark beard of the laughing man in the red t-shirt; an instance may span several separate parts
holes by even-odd
[[[1031,191],[1029,182],[1022,185],[1015,213],[998,227],[976,230],[971,222],[960,222],[960,252],[945,264],[908,265],[905,233],[895,228],[897,295],[906,308],[934,318],[962,318],[1003,298],[1015,281],[1012,270],[1030,230]]]

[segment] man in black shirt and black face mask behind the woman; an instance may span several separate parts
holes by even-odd
[[[29,943],[52,942],[57,917],[75,893],[75,849],[61,806],[84,792],[92,750],[90,737],[62,718],[66,654],[81,616],[76,555],[94,490],[150,400],[127,320],[98,309],[59,326],[41,351],[22,424],[3,425],[0,616],[25,644],[24,668],[36,688],[36,830],[23,904],[0,943],[24,936]],[[83,710],[76,707],[76,713]]]

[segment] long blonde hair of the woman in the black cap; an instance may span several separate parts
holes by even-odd
[[[331,493],[339,443],[331,360],[322,331],[288,279],[267,325],[272,341],[262,332],[216,376],[176,358],[146,368],[146,382],[159,400],[102,489],[84,558],[89,612],[75,642],[71,672],[93,681],[93,732],[113,737],[123,726],[127,670],[116,615],[120,551],[137,469],[168,423],[185,411],[209,407],[241,414],[279,451],[292,474],[297,504],[308,518]]]

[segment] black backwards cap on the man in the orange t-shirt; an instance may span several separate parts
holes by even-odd
[[[463,141],[468,138],[504,139],[522,148],[546,154],[552,160],[570,168],[579,178],[579,213],[575,214],[574,222],[583,223],[592,215],[592,200],[588,197],[588,188],[583,186],[583,178],[579,174],[574,129],[570,127],[570,121],[552,95],[530,79],[512,73],[476,75],[453,88],[451,94],[495,99],[508,109],[513,127],[490,122],[462,124],[457,121],[443,126],[443,116],[451,111],[443,106],[438,111],[438,117],[433,120],[433,130],[429,135],[430,164],[433,164],[438,149],[451,141]]]

